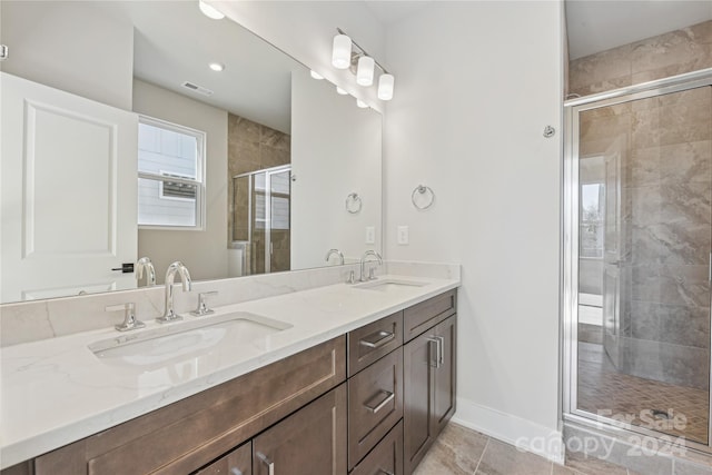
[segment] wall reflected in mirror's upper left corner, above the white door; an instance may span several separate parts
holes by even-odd
[[[131,110],[134,26],[90,2],[0,2],[3,71]]]

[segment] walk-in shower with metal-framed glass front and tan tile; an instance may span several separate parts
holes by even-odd
[[[564,166],[564,418],[706,452],[711,85],[567,101]]]

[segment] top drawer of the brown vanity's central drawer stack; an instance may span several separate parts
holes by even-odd
[[[403,345],[403,311],[348,334],[348,376]]]

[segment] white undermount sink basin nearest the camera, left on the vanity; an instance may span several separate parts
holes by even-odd
[[[102,339],[89,345],[89,349],[106,363],[149,366],[224,345],[263,348],[269,335],[287,328],[291,325],[238,311]]]

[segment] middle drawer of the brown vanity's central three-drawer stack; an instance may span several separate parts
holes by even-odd
[[[348,379],[348,467],[403,417],[403,348]]]

